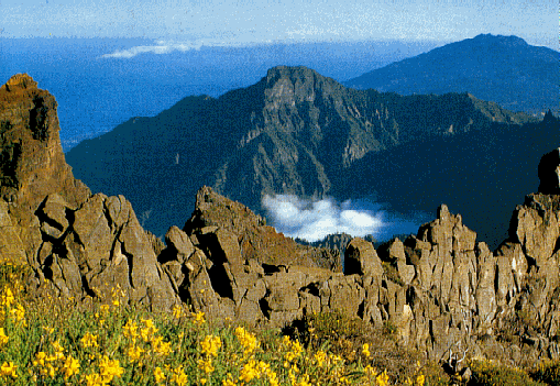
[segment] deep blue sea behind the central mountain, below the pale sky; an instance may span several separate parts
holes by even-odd
[[[246,87],[277,65],[304,65],[339,81],[447,42],[378,41],[201,47],[132,58],[102,58],[143,38],[0,38],[0,84],[28,73],[58,102],[68,151],[133,117],[153,117],[193,95]]]

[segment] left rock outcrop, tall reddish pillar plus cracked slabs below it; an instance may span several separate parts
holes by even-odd
[[[28,75],[0,88],[0,257],[28,263],[30,290],[168,309],[178,301],[124,197],[91,196],[58,137],[56,101]]]

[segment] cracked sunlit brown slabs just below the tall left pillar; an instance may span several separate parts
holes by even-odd
[[[94,195],[73,210],[54,194],[40,206],[37,217],[43,239],[39,285],[48,279],[62,295],[78,300],[111,299],[118,286],[121,301],[154,310],[171,309],[179,301],[124,197]]]

